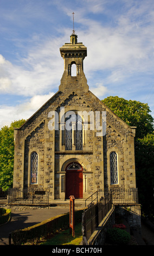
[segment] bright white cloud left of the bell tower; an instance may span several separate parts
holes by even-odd
[[[47,38],[28,50],[28,56],[12,64],[0,55],[0,93],[24,96],[48,93],[59,87],[63,60],[62,39]]]

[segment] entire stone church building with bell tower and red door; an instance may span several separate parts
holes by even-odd
[[[64,72],[59,90],[14,129],[13,187],[49,191],[52,200],[136,188],[135,127],[89,90],[87,48],[74,32],[60,53]]]

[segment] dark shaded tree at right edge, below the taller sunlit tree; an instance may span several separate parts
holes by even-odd
[[[154,133],[138,139],[136,143],[136,176],[139,202],[145,215],[154,217]]]

